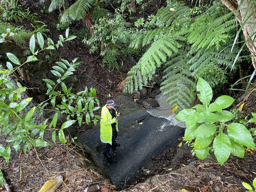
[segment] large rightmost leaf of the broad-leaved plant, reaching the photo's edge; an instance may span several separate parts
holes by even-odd
[[[254,148],[255,144],[252,139],[250,131],[242,124],[232,123],[227,125],[228,127],[228,136],[236,143]]]

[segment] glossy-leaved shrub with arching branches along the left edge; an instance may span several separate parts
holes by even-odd
[[[26,154],[27,150],[30,150],[32,147],[45,147],[48,145],[43,137],[46,130],[54,129],[52,133],[52,140],[56,141],[56,132],[58,131],[59,140],[62,143],[66,142],[63,129],[71,126],[76,120],[71,120],[75,117],[78,119],[79,124],[81,125],[82,116],[85,115],[86,122],[89,124],[91,122],[90,117],[97,117],[93,114],[93,111],[99,107],[94,107],[94,101],[99,103],[96,100],[96,91],[95,89],[90,89],[90,92],[87,88],[83,91],[78,92],[78,94],[72,94],[71,87],[67,89],[63,80],[69,78],[75,67],[79,64],[76,63],[77,59],[74,59],[72,63],[62,60],[62,62],[57,62],[56,66],[53,66],[54,70],[51,70],[52,74],[58,77],[56,82],[50,79],[44,79],[46,86],[48,87],[47,94],[49,95],[50,103],[54,106],[55,114],[49,124],[48,129],[47,122],[49,119],[46,119],[41,124],[35,124],[35,111],[45,110],[44,107],[48,104],[45,102],[41,103],[38,106],[31,106],[31,101],[33,98],[24,98],[23,93],[26,91],[26,87],[23,87],[19,82],[12,81],[9,76],[13,74],[16,70],[27,63],[32,63],[33,61],[38,61],[36,55],[44,50],[53,50],[59,46],[63,46],[63,42],[71,41],[76,38],[76,36],[69,35],[69,29],[66,30],[65,38],[63,35],[59,35],[59,41],[54,44],[52,39],[47,39],[47,46],[45,47],[45,41],[41,33],[37,33],[37,42],[39,49],[36,48],[36,38],[35,35],[32,35],[30,39],[30,52],[31,54],[27,57],[24,63],[20,63],[20,60],[12,53],[7,53],[8,59],[12,62],[7,61],[7,69],[0,69],[0,131],[6,135],[7,142],[10,143],[9,146],[0,145],[0,156],[4,157],[6,162],[9,162],[11,146],[16,151],[21,151]],[[15,65],[15,66],[13,66]],[[58,86],[61,86],[62,90],[57,90]],[[54,86],[54,87],[52,87]],[[56,105],[56,98],[61,98],[61,105]],[[74,106],[74,103],[77,105]],[[82,104],[85,104],[82,107]],[[74,107],[73,107],[73,106]],[[98,104],[99,105],[99,104]],[[63,122],[61,128],[56,126],[58,116],[60,114],[68,114],[67,121]],[[100,118],[98,116],[98,118]],[[96,118],[94,119],[96,124]],[[54,127],[54,128],[52,128]],[[37,151],[35,149],[37,154]],[[2,183],[2,172],[0,172],[0,183]]]

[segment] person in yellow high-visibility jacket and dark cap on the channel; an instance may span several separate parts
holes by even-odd
[[[103,154],[108,159],[111,158],[109,153],[110,148],[120,146],[120,144],[116,142],[118,132],[117,117],[119,116],[119,113],[114,109],[116,105],[113,100],[108,100],[101,110],[100,141],[107,144]]]

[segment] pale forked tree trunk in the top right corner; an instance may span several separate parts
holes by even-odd
[[[226,7],[228,7],[228,9],[234,11],[234,14],[236,14],[241,0],[223,0],[222,2]],[[251,2],[252,0],[243,1],[237,14],[237,20],[240,24],[242,24],[243,21],[250,16],[250,18],[246,21],[246,24],[243,26],[243,35],[245,40],[249,39],[246,45],[251,53],[250,56],[252,58],[252,65],[254,69],[256,69],[256,41],[254,41],[254,38],[256,37],[256,26],[254,26],[254,23],[256,22],[255,3],[252,3],[250,10],[248,11],[247,15],[245,15]]]

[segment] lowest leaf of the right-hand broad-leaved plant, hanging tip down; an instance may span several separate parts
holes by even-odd
[[[228,135],[219,133],[213,140],[213,150],[217,161],[223,165],[228,160],[232,150]]]

